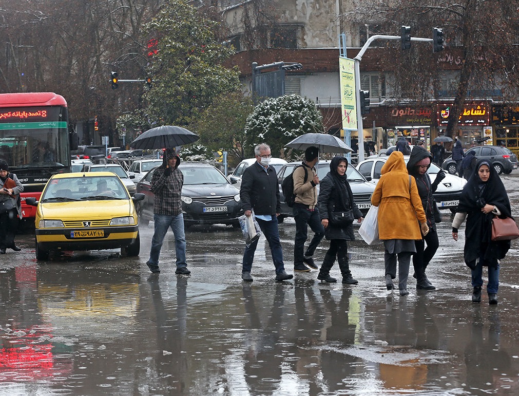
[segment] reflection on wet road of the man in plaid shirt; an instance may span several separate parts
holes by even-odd
[[[187,278],[176,279],[176,318],[168,318],[157,274],[149,276],[148,282],[156,315],[157,375],[167,381],[163,386],[168,389],[168,394],[182,394],[186,391],[188,378],[186,353],[183,353],[186,344]]]

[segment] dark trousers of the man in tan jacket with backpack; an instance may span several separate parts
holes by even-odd
[[[317,245],[324,237],[324,227],[321,224],[321,217],[317,209],[310,211],[298,203],[294,204],[293,209],[295,220],[295,240],[294,240],[294,265],[303,264],[304,256],[311,257],[316,251]],[[308,235],[308,226],[315,233],[313,235],[306,253],[305,242]]]

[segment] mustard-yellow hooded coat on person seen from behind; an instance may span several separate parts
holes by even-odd
[[[420,223],[426,223],[427,218],[414,177],[409,185],[404,155],[392,152],[381,174],[371,196],[371,204],[378,206],[379,238],[422,239]]]

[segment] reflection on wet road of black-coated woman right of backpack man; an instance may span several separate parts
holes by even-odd
[[[323,299],[323,311],[327,314],[322,329],[325,343],[327,346],[337,346],[337,349],[343,350],[342,352],[334,350],[321,352],[322,383],[325,384],[325,388],[320,391],[334,392],[344,390],[345,380],[350,383],[355,375],[355,367],[359,359],[344,353],[344,349],[355,343],[358,312],[350,312],[352,308],[350,288],[343,288],[339,302],[335,301],[330,289],[322,288],[319,291]]]

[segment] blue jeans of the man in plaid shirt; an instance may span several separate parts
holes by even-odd
[[[186,263],[186,236],[184,233],[184,216],[181,214],[154,214],[153,221],[155,222],[155,231],[152,238],[152,249],[149,252],[148,263],[153,266],[159,265],[159,253],[162,248],[162,242],[171,228],[175,236],[175,253],[176,253],[176,267],[187,267]]]

